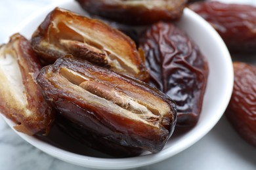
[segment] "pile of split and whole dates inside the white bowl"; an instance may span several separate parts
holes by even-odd
[[[58,126],[116,156],[160,152],[196,125],[207,85],[205,57],[172,23],[187,1],[77,1],[101,19],[57,7],[30,41],[1,46],[1,113],[28,135]]]

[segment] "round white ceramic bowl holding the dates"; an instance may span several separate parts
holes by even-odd
[[[85,14],[75,1],[62,2],[54,5],[54,7],[56,6],[72,10],[79,14]],[[37,12],[37,14],[33,14],[19,27],[18,32],[30,39],[33,31],[35,31],[37,26],[54,7],[47,7]],[[200,46],[202,53],[207,58],[209,62],[209,80],[198,124],[187,133],[171,138],[161,152],[158,154],[144,154],[134,158],[102,158],[102,155],[97,154],[97,152],[90,153],[93,152],[92,150],[87,150],[87,155],[77,154],[77,152],[69,152],[59,148],[58,144],[54,144],[54,141],[41,141],[35,137],[17,132],[18,135],[28,141],[28,143],[55,158],[76,165],[97,169],[127,169],[149,165],[174,156],[196,143],[196,141],[201,139],[215,126],[228,105],[233,86],[232,61],[224,42],[213,27],[191,10],[184,10],[184,14],[177,25],[186,31],[190,38]],[[7,120],[7,118],[5,118],[5,121],[9,126],[14,126],[13,122]],[[55,138],[59,137],[53,137],[52,140]],[[72,143],[72,141],[70,143]],[[77,143],[75,143],[74,146],[77,146],[78,150],[79,147],[83,147],[79,146]]]

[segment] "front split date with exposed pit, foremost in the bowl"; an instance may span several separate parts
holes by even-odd
[[[66,57],[44,67],[37,82],[64,117],[108,141],[159,152],[173,133],[175,103],[130,76]]]

